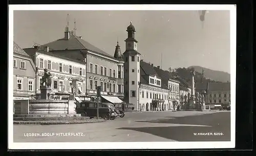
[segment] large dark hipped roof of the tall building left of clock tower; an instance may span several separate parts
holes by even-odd
[[[98,54],[102,54],[108,56],[110,58],[114,58],[112,55],[102,51],[101,49],[93,46],[91,43],[81,39],[79,36],[74,34],[70,34],[69,39],[60,38],[53,42],[49,42],[43,45],[44,47],[49,47],[50,50],[80,50],[80,49],[88,49]]]

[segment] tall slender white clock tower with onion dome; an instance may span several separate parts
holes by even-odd
[[[140,53],[137,51],[138,41],[135,39],[135,28],[127,27],[128,37],[125,41],[124,59],[124,101],[134,104],[134,109],[139,110],[140,86]]]

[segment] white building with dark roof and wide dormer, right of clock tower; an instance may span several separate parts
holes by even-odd
[[[140,60],[140,75],[140,106],[147,111],[168,110],[168,88],[154,70],[154,65]]]

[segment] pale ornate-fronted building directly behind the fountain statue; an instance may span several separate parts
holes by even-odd
[[[47,69],[52,75],[50,99],[65,99],[71,95],[83,98],[86,96],[86,62],[85,60],[73,60],[70,58],[54,55],[42,48],[24,49],[32,58],[38,72],[36,81],[36,93],[40,94],[40,86],[44,70]],[[56,96],[55,96],[56,95]]]

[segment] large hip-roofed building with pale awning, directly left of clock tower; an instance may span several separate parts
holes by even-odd
[[[101,100],[110,102],[123,98],[123,60],[96,48],[89,42],[76,36],[66,27],[64,37],[42,47],[49,52],[77,61],[86,62],[86,98],[84,100],[96,100],[97,86],[101,86]],[[118,49],[119,45],[117,45]],[[119,47],[120,49],[120,47]],[[111,101],[112,100],[112,101]]]

